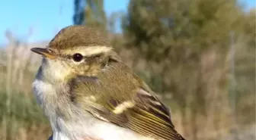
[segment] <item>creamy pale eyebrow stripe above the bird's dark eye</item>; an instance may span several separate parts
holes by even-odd
[[[107,46],[88,46],[88,47],[78,47],[73,50],[66,50],[66,54],[74,54],[74,53],[80,53],[83,56],[91,56],[94,54],[101,54],[106,53],[108,51],[111,51],[113,48],[107,47]]]

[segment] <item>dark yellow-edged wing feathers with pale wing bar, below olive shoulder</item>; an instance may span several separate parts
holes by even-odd
[[[129,99],[110,96],[101,101],[101,104],[91,101],[86,104],[86,110],[100,120],[131,129],[141,135],[150,135],[158,140],[184,140],[171,123],[168,107],[147,89],[145,84],[131,90],[133,94],[130,95],[133,97]]]

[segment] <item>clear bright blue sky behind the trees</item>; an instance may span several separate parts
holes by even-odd
[[[104,0],[107,15],[114,11],[125,11],[129,0]],[[242,0],[248,8],[256,7],[256,0]],[[5,30],[27,39],[29,30],[33,34],[28,42],[50,39],[62,27],[72,24],[73,0],[2,0],[0,2],[0,44],[5,44]]]

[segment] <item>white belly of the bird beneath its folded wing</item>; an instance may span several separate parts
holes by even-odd
[[[153,140],[130,129],[124,129],[94,117],[84,119],[81,122],[62,124],[61,127],[66,128],[61,129],[62,131],[53,132],[53,140]]]

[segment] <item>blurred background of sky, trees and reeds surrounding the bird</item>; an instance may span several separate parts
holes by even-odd
[[[1,140],[51,135],[31,90],[41,58],[30,48],[72,24],[108,33],[185,138],[256,139],[255,0],[3,0],[0,9]]]

